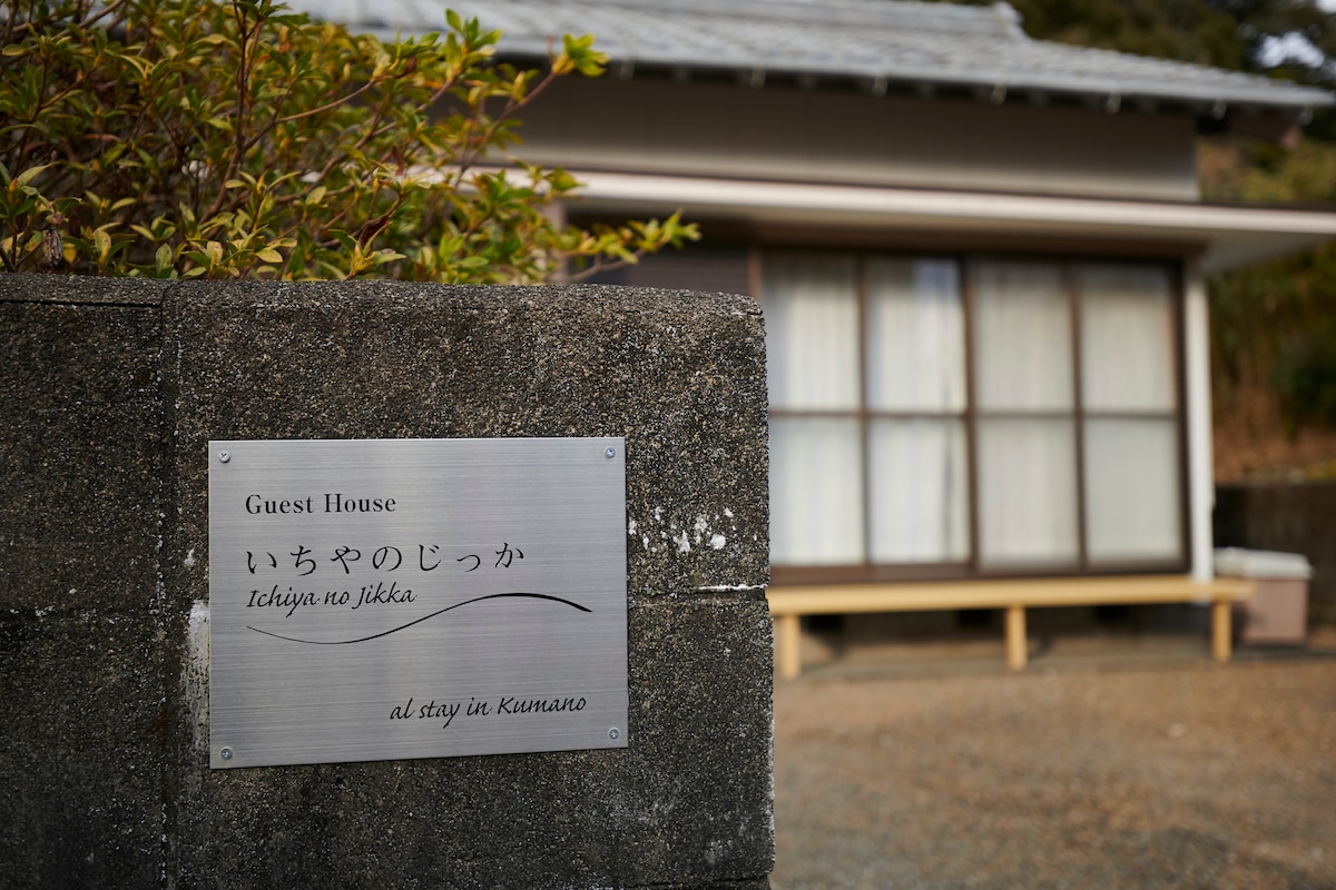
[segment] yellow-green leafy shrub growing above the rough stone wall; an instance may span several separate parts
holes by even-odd
[[[271,0],[0,3],[0,263],[156,278],[525,283],[695,239],[553,221],[577,183],[504,152],[545,71],[498,32],[383,43]]]

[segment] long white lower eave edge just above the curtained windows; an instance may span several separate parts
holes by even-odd
[[[1216,272],[1336,239],[1336,211],[588,172],[582,209],[1185,246]]]

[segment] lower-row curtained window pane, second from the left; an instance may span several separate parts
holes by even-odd
[[[870,450],[872,562],[969,559],[965,423],[878,420]]]

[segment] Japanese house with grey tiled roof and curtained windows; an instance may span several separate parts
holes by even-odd
[[[444,23],[441,0],[297,5]],[[608,53],[521,133],[587,183],[572,219],[701,224],[619,280],[763,304],[774,590],[1209,582],[1205,276],[1336,215],[1204,203],[1194,140],[1285,139],[1328,93],[1035,41],[1003,3],[450,5],[517,61],[562,33]]]

